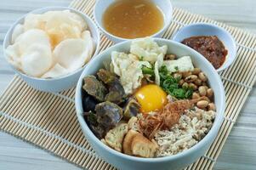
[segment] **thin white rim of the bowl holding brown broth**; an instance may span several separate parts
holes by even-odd
[[[100,28],[100,31],[102,31],[103,33],[105,33],[105,35],[108,35],[110,37],[113,37],[115,38],[117,41],[119,42],[123,42],[123,41],[129,41],[129,40],[133,40],[133,39],[136,39],[136,38],[124,38],[124,37],[117,37],[113,34],[111,34],[109,31],[106,31],[104,26],[101,26],[100,25],[100,21],[98,20],[98,18],[96,17],[96,10],[100,10],[98,7],[98,4],[100,3],[100,0],[97,0],[95,5],[94,5],[94,20],[95,20],[95,23],[96,25]],[[156,33],[152,34],[151,36],[149,37],[156,37],[157,35],[159,35],[162,31],[165,31],[168,29],[168,26],[170,26],[172,20],[173,20],[173,11],[174,11],[174,8],[173,8],[173,4],[171,3],[170,0],[165,0],[164,3],[168,3],[168,6],[169,6],[169,9],[170,9],[170,13],[171,15],[169,16],[169,20],[167,21],[167,23],[164,23],[164,26],[162,26],[162,29],[157,31]],[[112,4],[112,3],[111,3]],[[109,5],[110,6],[110,5]],[[108,7],[109,7],[108,6]],[[162,9],[160,9],[162,14],[165,16],[165,13],[164,11],[162,11]],[[105,12],[105,11],[104,11]],[[104,14],[104,12],[102,13],[102,15]],[[138,37],[140,38],[140,37]]]

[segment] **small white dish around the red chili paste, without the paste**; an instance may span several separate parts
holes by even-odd
[[[187,37],[194,36],[217,36],[223,42],[228,54],[223,65],[217,71],[223,71],[228,68],[236,59],[236,42],[234,38],[225,29],[206,23],[196,23],[182,27],[174,34],[172,38],[176,42],[182,42]]]

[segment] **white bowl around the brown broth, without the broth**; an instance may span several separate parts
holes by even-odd
[[[106,31],[103,23],[102,18],[103,14],[105,13],[106,8],[108,8],[112,3],[115,3],[117,0],[97,0],[94,6],[94,19],[96,21],[97,26],[99,26],[100,31],[102,31],[106,37],[111,39],[112,42],[123,42],[129,40],[127,38],[117,37],[112,35],[110,32]],[[151,37],[162,37],[164,31],[168,29],[168,26],[172,20],[173,14],[173,6],[170,0],[151,0],[152,3],[155,3],[158,8],[161,9],[163,18],[164,18],[164,26],[160,31],[157,31],[155,34],[151,35]]]

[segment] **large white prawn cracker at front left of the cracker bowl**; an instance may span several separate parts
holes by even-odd
[[[6,49],[9,61],[29,76],[40,77],[52,65],[47,34],[38,29],[24,32]]]

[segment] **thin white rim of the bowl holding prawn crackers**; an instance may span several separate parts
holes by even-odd
[[[71,8],[71,7],[62,7],[62,6],[50,6],[50,7],[43,7],[43,8],[36,8],[34,10],[31,10],[30,12],[20,16],[17,20],[14,21],[14,23],[12,24],[12,26],[9,27],[9,30],[7,31],[7,33],[5,34],[5,37],[3,39],[3,58],[6,60],[6,62],[8,63],[8,65],[18,74],[22,75],[23,77],[26,77],[28,79],[32,79],[32,80],[37,80],[37,81],[45,81],[45,82],[51,82],[51,81],[55,81],[55,80],[61,80],[61,79],[65,79],[66,77],[71,77],[72,75],[77,74],[78,72],[82,71],[85,66],[87,65],[87,63],[85,65],[83,65],[81,68],[77,69],[76,71],[71,71],[70,73],[64,75],[64,76],[60,76],[60,77],[54,77],[54,78],[41,78],[41,77],[31,77],[26,75],[25,73],[23,73],[22,71],[19,71],[18,69],[16,69],[14,67],[14,65],[10,64],[8,61],[8,56],[5,53],[5,49],[8,47],[8,39],[9,37],[12,36],[12,33],[14,31],[14,27],[17,26],[18,24],[20,24],[21,20],[24,20],[26,18],[26,16],[28,14],[43,14],[46,13],[50,10],[71,10],[71,12],[79,14],[83,20],[89,20],[92,23],[92,27],[90,29],[93,29],[96,33],[96,37],[93,38],[94,42],[96,43],[95,45],[95,49],[94,49],[94,54],[91,56],[91,59],[93,59],[100,51],[100,32],[98,30],[98,27],[95,25],[94,21],[87,15],[87,14],[83,14],[82,12],[78,11],[76,8]],[[9,43],[9,45],[11,45],[11,43]],[[91,60],[89,59],[89,61]]]

